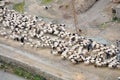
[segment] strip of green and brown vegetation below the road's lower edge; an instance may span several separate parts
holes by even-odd
[[[46,80],[40,75],[30,73],[21,67],[17,67],[15,65],[12,65],[11,63],[6,63],[4,61],[0,61],[0,69],[16,74],[28,80]]]

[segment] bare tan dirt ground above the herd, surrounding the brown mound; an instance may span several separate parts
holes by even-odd
[[[19,3],[22,0],[11,1]],[[69,31],[75,32],[70,7],[59,8],[63,4],[69,5],[67,1],[53,0],[49,4],[41,4],[41,0],[25,1],[25,12],[28,14],[37,15],[48,22],[64,23]],[[79,13],[77,15],[77,26],[82,30],[81,35],[94,38],[96,41],[102,41],[105,44],[115,44],[116,40],[120,40],[120,22],[112,22],[111,12],[111,8],[117,5],[111,0],[98,0],[88,11]],[[48,10],[45,10],[44,6],[48,6]]]

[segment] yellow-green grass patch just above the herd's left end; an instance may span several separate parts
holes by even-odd
[[[13,5],[13,9],[15,11],[18,11],[20,13],[24,13],[24,6],[25,6],[25,0],[23,2],[17,3]]]

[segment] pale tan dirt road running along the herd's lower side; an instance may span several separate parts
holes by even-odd
[[[18,42],[1,37],[0,51],[0,55],[13,56],[14,59],[20,59],[30,65],[43,67],[43,70],[52,71],[51,74],[55,73],[65,80],[116,80],[120,75],[119,70],[115,69],[95,68],[82,63],[73,65],[67,60],[61,60],[59,56],[51,55],[49,49],[20,46]]]

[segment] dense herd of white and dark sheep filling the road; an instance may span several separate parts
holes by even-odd
[[[51,54],[73,64],[120,69],[120,50],[66,31],[64,24],[46,23],[37,16],[20,14],[0,0],[0,36],[35,48],[50,48]]]

